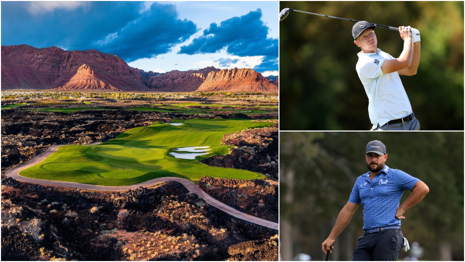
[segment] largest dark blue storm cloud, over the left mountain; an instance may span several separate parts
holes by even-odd
[[[179,19],[172,4],[93,1],[76,8],[43,11],[31,2],[1,2],[1,45],[58,46],[97,49],[126,62],[168,52],[196,32],[196,25]],[[42,7],[43,8],[43,7]]]

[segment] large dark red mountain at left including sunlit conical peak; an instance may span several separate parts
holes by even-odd
[[[95,49],[65,51],[28,45],[1,47],[5,89],[111,89],[142,91],[140,72],[116,55]]]

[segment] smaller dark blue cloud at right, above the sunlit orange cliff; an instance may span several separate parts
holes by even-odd
[[[250,11],[247,15],[232,17],[203,31],[181,54],[215,53],[223,48],[237,56],[264,56],[255,70],[278,70],[278,39],[267,38],[268,26],[262,21],[262,10]]]

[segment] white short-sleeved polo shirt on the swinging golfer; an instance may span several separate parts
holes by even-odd
[[[412,114],[412,106],[399,74],[383,74],[381,70],[385,60],[395,58],[381,49],[378,49],[378,53],[360,51],[357,55],[356,70],[368,96],[368,115],[373,128]]]

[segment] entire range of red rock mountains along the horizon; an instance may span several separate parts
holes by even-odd
[[[114,91],[277,92],[278,86],[247,68],[145,72],[95,49],[1,46],[1,88]]]

